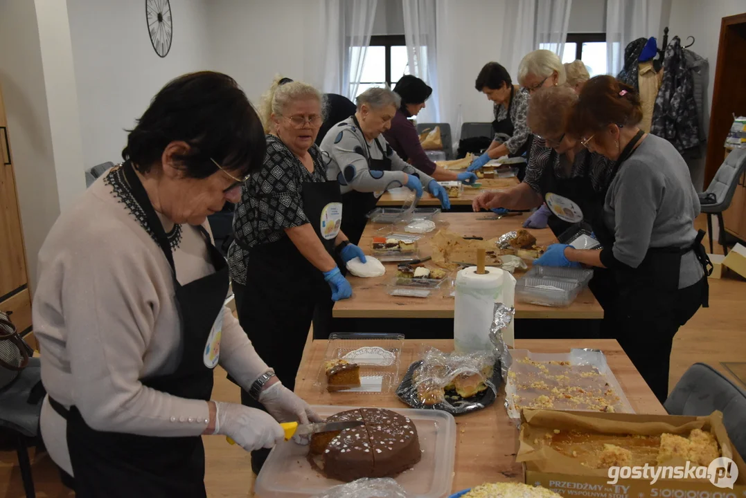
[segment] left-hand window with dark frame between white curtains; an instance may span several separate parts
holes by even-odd
[[[352,51],[350,80],[354,79],[355,59],[360,57],[360,48],[353,47]],[[366,52],[366,60],[360,74],[357,95],[369,88],[392,87],[404,74],[410,74],[404,35],[371,36],[371,44]]]

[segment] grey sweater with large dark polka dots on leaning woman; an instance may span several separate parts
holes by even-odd
[[[380,148],[376,144],[380,144]],[[391,159],[391,171],[372,171],[368,167],[368,154],[371,159]],[[397,188],[407,182],[407,175],[418,176],[425,191],[432,178],[416,170],[401,159],[386,143],[383,134],[372,141],[366,141],[363,131],[355,126],[352,118],[336,124],[322,140],[322,150],[334,159],[327,169],[327,179],[339,182],[342,194],[349,191],[383,193],[389,188]]]

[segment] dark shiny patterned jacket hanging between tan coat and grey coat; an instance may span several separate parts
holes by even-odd
[[[670,141],[680,153],[700,143],[694,85],[681,40],[674,36],[665,49],[663,80],[653,109],[651,133]]]

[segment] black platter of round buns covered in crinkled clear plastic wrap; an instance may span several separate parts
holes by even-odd
[[[404,403],[461,415],[495,402],[503,377],[493,351],[448,354],[427,348],[421,356],[396,391]]]

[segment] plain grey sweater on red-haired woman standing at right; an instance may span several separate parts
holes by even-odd
[[[648,135],[606,192],[604,222],[616,237],[614,258],[636,268],[651,247],[692,245],[699,214],[699,197],[686,162],[670,142]],[[679,288],[696,284],[702,275],[694,252],[683,255]]]

